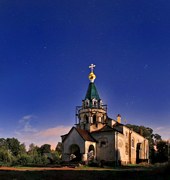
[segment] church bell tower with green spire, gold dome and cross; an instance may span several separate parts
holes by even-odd
[[[82,106],[76,107],[77,127],[89,132],[97,131],[106,124],[107,106],[103,105],[99,97],[97,88],[94,84],[96,75],[94,74],[94,64],[89,68],[89,86],[85,98],[82,100]]]

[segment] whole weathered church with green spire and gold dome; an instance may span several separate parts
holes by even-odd
[[[94,84],[96,78],[89,66],[89,86],[82,106],[76,107],[77,122],[62,138],[63,161],[97,161],[116,164],[136,164],[147,161],[148,140],[121,123],[109,118],[107,105],[99,97]]]

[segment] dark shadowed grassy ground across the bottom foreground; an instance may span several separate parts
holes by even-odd
[[[135,180],[169,180],[169,166],[166,167],[123,167],[108,168],[67,168],[67,169],[35,169],[16,168],[16,170],[0,170],[0,180],[110,180],[110,179],[135,179]]]

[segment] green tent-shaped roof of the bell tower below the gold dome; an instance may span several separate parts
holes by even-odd
[[[96,99],[96,100],[100,100],[100,97],[99,97],[99,94],[97,92],[97,89],[96,89],[96,86],[94,83],[90,82],[89,83],[89,87],[87,89],[87,93],[86,93],[86,97],[85,99],[89,99],[89,100],[92,100],[92,99]]]

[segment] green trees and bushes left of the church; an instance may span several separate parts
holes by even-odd
[[[59,164],[60,160],[61,143],[55,150],[49,144],[38,147],[33,143],[26,150],[25,144],[16,138],[0,138],[0,166],[46,166]]]

